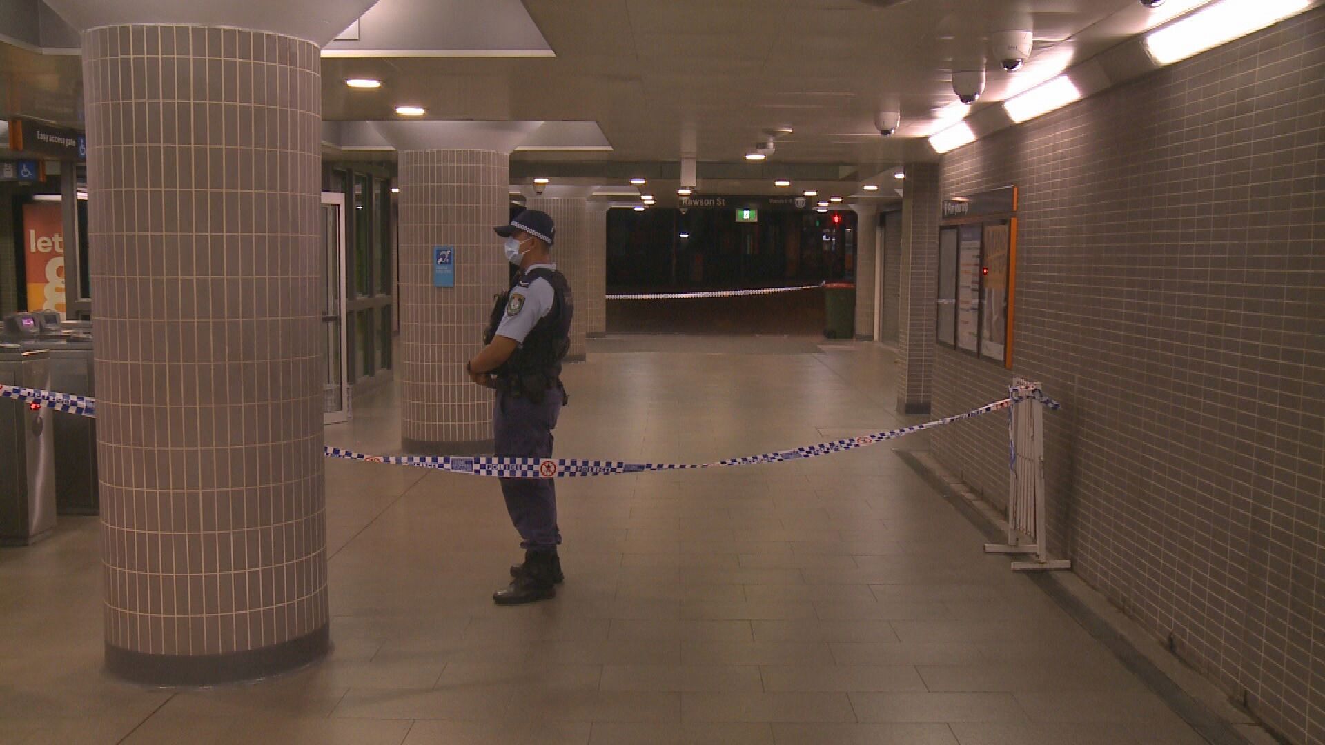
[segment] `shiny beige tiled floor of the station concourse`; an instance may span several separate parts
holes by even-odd
[[[901,424],[874,345],[611,338],[566,378],[567,457]],[[391,406],[329,441],[392,448]],[[0,551],[0,742],[1203,742],[892,447],[563,481],[566,585],[515,608],[489,599],[518,558],[496,481],[330,461],[334,652],[209,691],[99,672],[95,524],[62,520]]]

